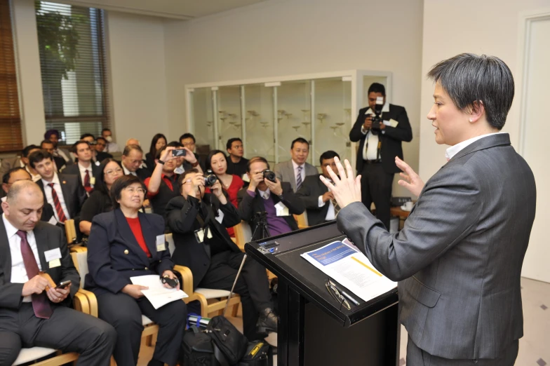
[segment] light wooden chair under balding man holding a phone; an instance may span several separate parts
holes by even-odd
[[[73,257],[73,260],[74,260],[74,257]],[[90,304],[89,304],[88,296],[86,295],[86,292],[88,291],[82,290],[82,288],[80,288],[79,291],[76,292],[76,294],[74,294],[73,304],[74,304],[75,310],[81,311],[86,314],[90,314],[91,309],[90,309]],[[95,316],[97,316],[97,311]],[[62,353],[61,351],[58,351],[53,348],[46,348],[46,347],[22,348],[21,351],[19,352],[18,358],[13,363],[13,366],[26,364],[34,360],[39,360],[40,358],[44,358],[48,355],[53,355],[53,357],[40,362],[36,362],[33,364],[33,366],[65,365],[66,363],[76,361],[79,358],[78,353],[75,353],[75,352]]]

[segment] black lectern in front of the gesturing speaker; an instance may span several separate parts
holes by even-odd
[[[359,305],[347,310],[328,292],[326,274],[300,257],[344,238],[329,222],[245,245],[279,278],[279,365],[398,365],[397,289],[370,301],[355,297]]]

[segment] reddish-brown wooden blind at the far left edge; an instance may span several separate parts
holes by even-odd
[[[10,5],[0,0],[0,151],[20,151],[22,144]]]

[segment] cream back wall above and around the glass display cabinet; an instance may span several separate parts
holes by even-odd
[[[270,0],[189,22],[168,20],[170,135],[186,128],[185,84],[385,70],[394,77],[391,102],[410,116],[414,137],[403,149],[417,168],[422,11],[421,0]]]

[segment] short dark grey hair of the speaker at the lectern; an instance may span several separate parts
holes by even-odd
[[[482,102],[490,126],[504,127],[514,100],[514,77],[498,57],[461,53],[431,67],[428,77],[441,85],[461,111]]]

